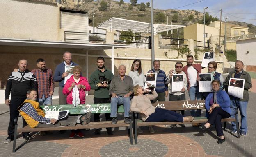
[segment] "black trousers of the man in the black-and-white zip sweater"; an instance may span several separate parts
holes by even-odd
[[[9,126],[8,126],[8,137],[7,139],[14,139],[14,118],[19,116],[19,111],[18,107],[21,106],[21,104],[26,100],[26,97],[23,98],[17,98],[17,97],[11,97],[10,101],[10,121],[9,121]],[[22,117],[23,125],[22,127],[27,125],[27,122],[25,119]],[[23,137],[25,137],[27,133],[22,133]]]

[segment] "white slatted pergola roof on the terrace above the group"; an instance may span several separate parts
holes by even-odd
[[[169,25],[169,24],[154,24],[154,34],[170,31],[173,29],[183,28],[183,25]],[[130,29],[137,33],[151,32],[151,24],[146,22],[127,20],[123,18],[110,18],[109,20],[100,24],[97,28],[110,29],[117,31],[129,31]]]

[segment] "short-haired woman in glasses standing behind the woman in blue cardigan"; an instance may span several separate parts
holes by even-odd
[[[221,73],[218,73],[216,71],[216,69],[217,69],[217,62],[215,62],[215,61],[209,62],[207,68],[208,68],[208,73],[211,73],[212,76],[213,76],[212,80],[219,80],[219,82],[220,82],[220,89],[222,90],[223,89],[224,78],[223,78]],[[199,81],[200,77],[197,77],[197,80]],[[211,93],[211,92],[203,92],[203,99],[204,100],[206,99],[206,97],[208,96],[209,93]]]

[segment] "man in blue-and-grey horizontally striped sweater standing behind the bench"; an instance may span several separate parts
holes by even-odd
[[[156,73],[156,86],[155,91],[158,94],[158,101],[165,101],[165,97],[168,96],[168,86],[165,84],[165,71],[160,69],[160,60],[154,60],[154,68],[149,70],[148,73]]]

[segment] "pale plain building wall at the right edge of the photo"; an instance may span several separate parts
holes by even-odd
[[[247,53],[247,51],[249,53]],[[244,61],[246,65],[256,65],[256,38],[236,41],[237,60]]]

